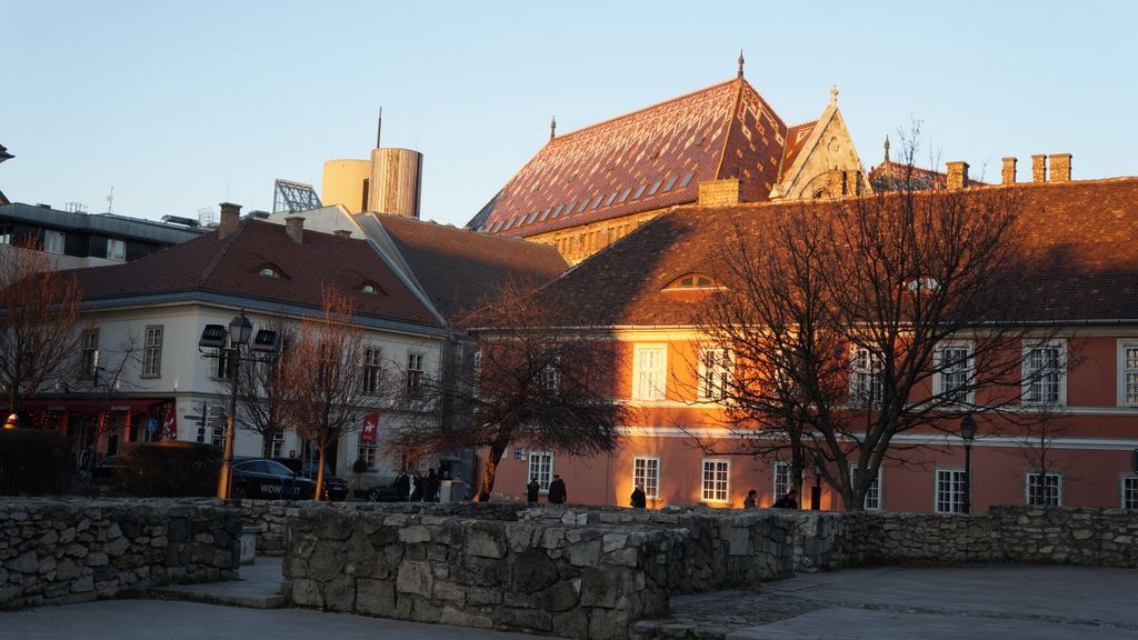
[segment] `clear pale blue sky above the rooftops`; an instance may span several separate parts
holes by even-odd
[[[1138,2],[0,0],[11,199],[157,219],[331,158],[423,153],[422,216],[464,223],[549,138],[733,77],[787,122],[830,85],[867,166],[923,121],[940,162],[1071,153],[1138,174]],[[896,148],[896,147],[894,147]]]

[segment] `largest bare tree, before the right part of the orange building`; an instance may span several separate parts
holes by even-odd
[[[733,354],[723,404],[745,437],[700,446],[785,451],[798,485],[817,460],[856,510],[887,459],[912,460],[898,435],[957,433],[972,413],[989,428],[1047,417],[1020,411],[1047,375],[1026,360],[1057,333],[1026,321],[1038,313],[1017,280],[1032,256],[1015,192],[899,183],[734,218],[712,259],[724,289],[699,325]]]

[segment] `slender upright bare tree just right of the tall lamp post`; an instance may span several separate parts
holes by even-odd
[[[302,321],[296,346],[279,363],[283,381],[292,389],[282,407],[283,424],[320,454],[316,500],[323,494],[328,448],[358,430],[363,415],[379,403],[366,386],[366,344],[363,330],[353,325],[354,313],[348,296],[325,287],[322,314]]]

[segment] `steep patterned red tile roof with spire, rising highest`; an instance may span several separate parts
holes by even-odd
[[[550,140],[492,210],[468,224],[533,236],[696,199],[708,180],[740,178],[744,200],[777,180],[786,125],[733,79]]]

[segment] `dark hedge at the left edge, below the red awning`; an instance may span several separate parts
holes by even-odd
[[[71,481],[64,436],[43,429],[0,429],[0,495],[63,493]]]

